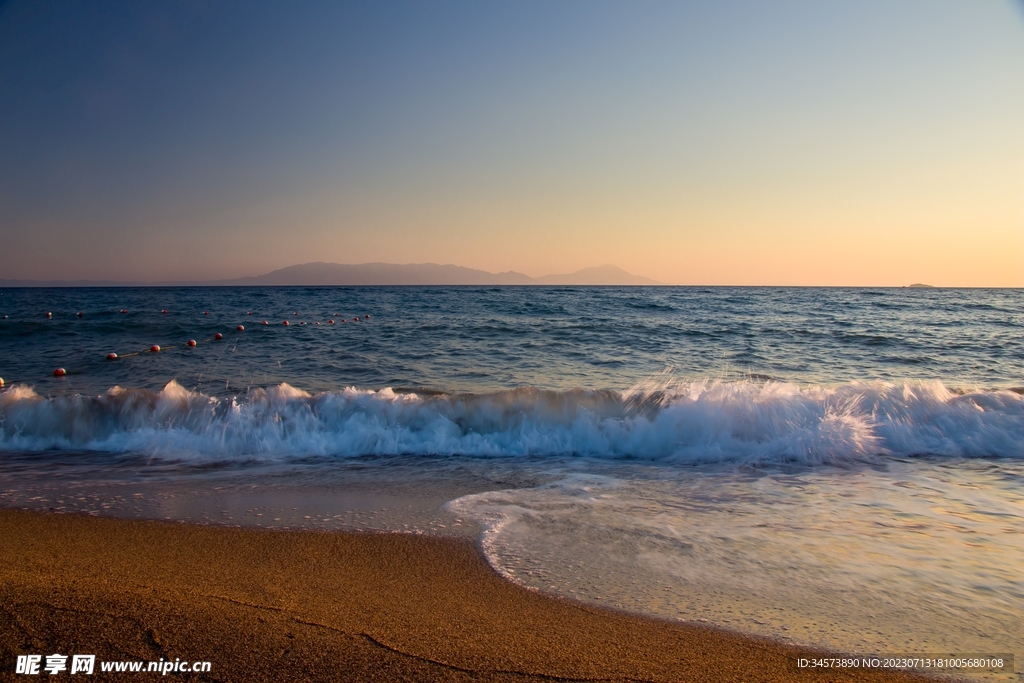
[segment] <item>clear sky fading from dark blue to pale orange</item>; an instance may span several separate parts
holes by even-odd
[[[1024,287],[1024,3],[0,5],[0,279]]]

